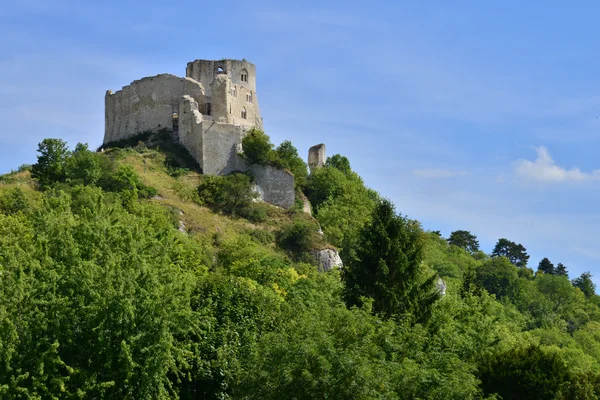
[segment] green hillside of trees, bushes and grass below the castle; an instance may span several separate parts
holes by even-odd
[[[243,174],[39,150],[0,179],[0,398],[600,396],[589,273],[534,274],[508,239],[488,256],[468,231],[424,232],[343,156],[306,182],[321,235],[294,210],[237,218],[255,204]],[[305,257],[326,240],[341,273]]]

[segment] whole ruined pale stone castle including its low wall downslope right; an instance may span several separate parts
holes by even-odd
[[[294,205],[294,177],[270,166],[246,165],[238,156],[251,129],[263,129],[256,67],[245,60],[189,62],[186,77],[160,74],[133,81],[105,96],[104,144],[144,132],[171,132],[203,174],[250,171],[262,199]]]

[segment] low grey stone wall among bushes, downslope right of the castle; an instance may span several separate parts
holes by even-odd
[[[261,200],[283,208],[294,206],[294,175],[282,169],[256,164],[248,167],[248,170],[256,178]]]

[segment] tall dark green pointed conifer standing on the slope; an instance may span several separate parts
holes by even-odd
[[[372,220],[361,231],[356,256],[343,271],[348,305],[372,298],[373,310],[383,317],[410,313],[426,321],[438,298],[436,276],[423,277],[423,239],[420,226],[401,215],[387,199],[380,200]]]

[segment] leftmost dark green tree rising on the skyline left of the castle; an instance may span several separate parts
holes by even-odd
[[[38,144],[38,161],[31,167],[31,176],[42,188],[65,180],[65,165],[69,157],[67,143],[61,139],[44,139]]]

